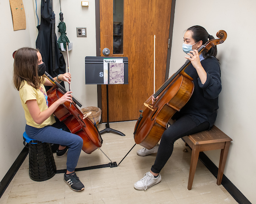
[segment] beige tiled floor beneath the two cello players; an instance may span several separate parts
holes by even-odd
[[[111,123],[110,127],[125,136],[113,133],[102,134],[102,151],[117,164],[135,144],[133,131],[136,121]],[[99,125],[103,130],[105,125]],[[118,167],[78,171],[85,186],[75,192],[63,181],[63,173],[47,181],[32,181],[29,178],[28,156],[0,198],[1,204],[234,204],[235,199],[216,178],[198,161],[192,190],[187,189],[191,150],[179,139],[173,154],[163,170],[162,181],[145,191],[134,189],[134,183],[150,170],[156,154],[137,156],[136,145]],[[188,152],[183,152],[187,148]],[[57,158],[57,169],[66,168],[66,156]],[[100,151],[81,152],[77,167],[108,164],[110,161]]]

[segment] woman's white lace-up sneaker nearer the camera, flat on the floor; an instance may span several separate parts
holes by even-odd
[[[140,179],[140,181],[137,181],[134,184],[134,188],[137,190],[147,190],[151,186],[154,186],[155,184],[158,184],[162,180],[161,174],[157,176],[157,178],[154,178],[152,173],[147,172],[144,174],[144,177]]]

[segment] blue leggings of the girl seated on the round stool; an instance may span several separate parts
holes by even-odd
[[[60,130],[59,128],[63,130]],[[69,147],[67,152],[67,170],[70,172],[75,170],[83,147],[83,139],[78,135],[64,131],[68,129],[63,122],[56,122],[52,126],[42,128],[26,125],[25,130],[27,135],[32,139]]]

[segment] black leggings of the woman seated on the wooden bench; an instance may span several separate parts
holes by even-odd
[[[196,123],[188,116],[181,116],[173,125],[168,127],[161,138],[161,142],[157,151],[157,157],[151,171],[160,173],[170,156],[172,155],[173,145],[177,139],[190,134],[198,133],[209,129],[209,122]]]

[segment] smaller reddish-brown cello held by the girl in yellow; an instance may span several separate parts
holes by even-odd
[[[45,75],[47,79],[54,84],[52,88],[47,91],[48,103],[50,106],[67,91],[47,72],[45,72]],[[67,125],[71,133],[79,135],[83,139],[84,143],[82,150],[90,154],[102,146],[103,140],[99,134],[96,124],[94,125],[90,119],[86,116],[84,117],[84,114],[81,113],[76,105],[79,105],[80,107],[82,106],[77,99],[73,97],[72,104],[70,104],[70,102],[65,102],[54,111],[54,114],[60,121]]]

